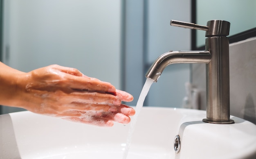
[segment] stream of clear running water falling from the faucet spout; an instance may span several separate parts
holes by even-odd
[[[132,135],[133,135],[133,132],[134,132],[134,129],[135,129],[135,125],[137,123],[137,118],[139,116],[139,112],[141,110],[141,108],[143,107],[143,103],[144,103],[144,100],[148,94],[148,91],[150,89],[150,86],[152,85],[154,81],[147,78],[146,79],[146,82],[142,88],[142,91],[139,95],[139,100],[137,102],[137,105],[136,105],[136,113],[134,115],[134,117],[132,118],[132,121],[131,121],[131,124],[130,124],[130,129],[129,129],[129,132],[128,132],[128,137],[127,137],[127,141],[126,141],[126,147],[125,147],[125,150],[124,150],[124,155],[123,155],[123,159],[126,159],[127,158],[127,155],[128,155],[128,151],[129,151],[129,148],[130,148],[130,144],[131,144],[131,140],[132,140]]]

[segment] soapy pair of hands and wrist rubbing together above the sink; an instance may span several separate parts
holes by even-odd
[[[97,126],[127,124],[132,95],[74,68],[49,65],[20,72],[0,63],[0,105]]]

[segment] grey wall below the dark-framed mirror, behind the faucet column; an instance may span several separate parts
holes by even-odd
[[[230,113],[256,124],[256,37],[229,46]],[[205,64],[193,64],[192,83],[206,109]]]

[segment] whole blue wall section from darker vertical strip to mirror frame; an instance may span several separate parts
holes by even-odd
[[[150,65],[169,50],[190,50],[191,30],[170,26],[170,21],[190,22],[188,0],[126,0],[124,9],[124,90],[136,105]],[[182,10],[182,11],[181,11]],[[144,106],[181,107],[189,81],[189,64],[168,66],[154,83]]]

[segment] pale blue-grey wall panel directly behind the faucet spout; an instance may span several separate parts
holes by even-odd
[[[165,52],[191,49],[191,30],[171,26],[171,20],[191,22],[191,1],[148,1],[146,70]],[[157,83],[151,86],[146,105],[182,107],[182,99],[186,96],[184,84],[189,82],[189,75],[189,64],[166,67]]]

